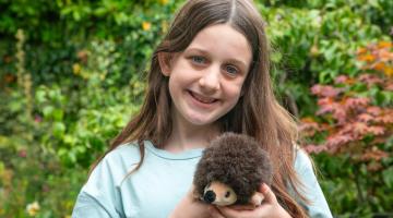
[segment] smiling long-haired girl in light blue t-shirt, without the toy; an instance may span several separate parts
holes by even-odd
[[[192,196],[203,148],[223,132],[261,142],[274,165],[262,206]],[[93,167],[73,217],[331,217],[296,125],[277,104],[263,21],[249,0],[189,0],[155,50],[143,107]]]

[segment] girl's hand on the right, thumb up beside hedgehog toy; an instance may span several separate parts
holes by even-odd
[[[248,206],[217,207],[225,218],[290,218],[290,215],[278,204],[272,190],[262,184],[259,192],[264,195],[261,206],[250,208]]]

